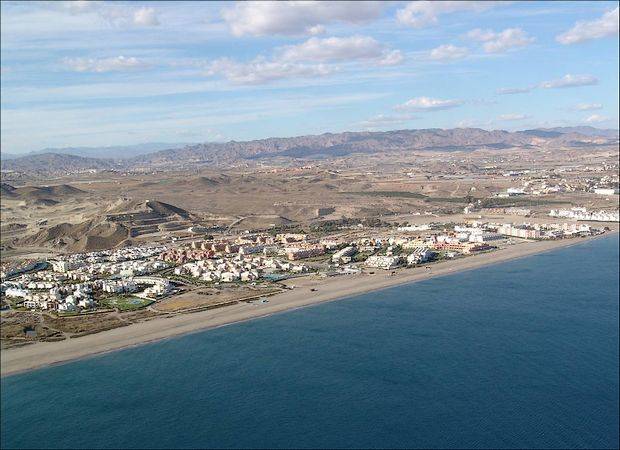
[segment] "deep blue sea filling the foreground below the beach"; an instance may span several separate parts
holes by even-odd
[[[618,237],[2,379],[3,448],[617,448]]]

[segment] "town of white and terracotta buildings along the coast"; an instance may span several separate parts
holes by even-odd
[[[565,217],[554,211],[551,215]],[[323,237],[306,233],[222,234],[202,241],[60,256],[36,268],[22,269],[25,273],[2,272],[2,303],[16,311],[50,311],[59,316],[140,309],[178,294],[187,295],[196,287],[278,286],[282,280],[300,276],[416,268],[492,252],[524,240],[571,239],[604,232],[604,228],[577,222],[479,220],[353,228],[342,227]]]

